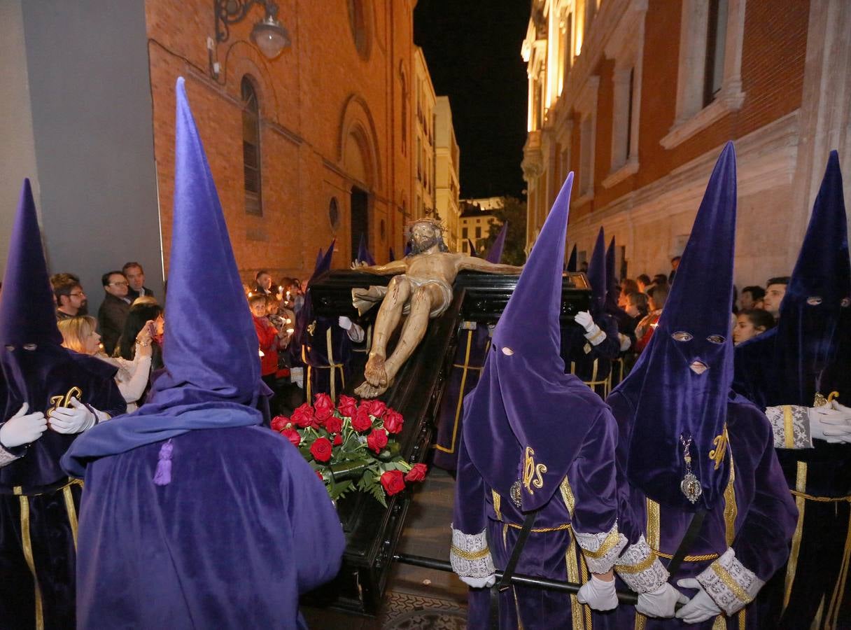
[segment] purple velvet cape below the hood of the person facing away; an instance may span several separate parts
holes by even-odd
[[[89,464],[77,627],[297,627],[298,598],[333,578],[345,539],[316,473],[261,427],[173,439]],[[119,551],[120,550],[120,551]]]

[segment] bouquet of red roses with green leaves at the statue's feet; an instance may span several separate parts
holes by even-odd
[[[340,396],[334,407],[328,394],[302,404],[293,415],[277,415],[271,428],[298,448],[337,500],[351,490],[373,495],[384,507],[386,496],[426,478],[426,464],[409,464],[393,437],[402,431],[402,414],[380,400]]]

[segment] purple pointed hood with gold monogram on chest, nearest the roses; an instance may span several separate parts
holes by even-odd
[[[471,460],[501,495],[519,493],[524,512],[550,500],[604,408],[585,384],[564,374],[559,356],[573,180],[571,173],[541,228],[494,329],[482,376],[464,400],[463,439]]]

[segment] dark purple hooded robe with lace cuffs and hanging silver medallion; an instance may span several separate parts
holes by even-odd
[[[719,607],[732,613],[722,627],[768,627],[751,602],[785,562],[795,524],[765,415],[731,389],[736,216],[735,154],[718,158],[694,220],[677,283],[659,327],[631,373],[608,397],[618,421],[621,528],[630,541],[615,565],[620,587],[652,592],[665,581],[697,578]],[[696,288],[696,289],[695,289]],[[681,482],[688,466],[700,493]],[[694,501],[692,501],[694,499]],[[676,575],[665,566],[697,510],[705,520]],[[694,591],[680,589],[689,597]],[[637,615],[621,604],[594,615],[607,628],[705,628],[724,616],[686,624]]]

